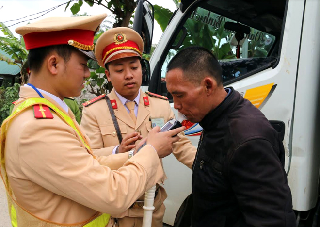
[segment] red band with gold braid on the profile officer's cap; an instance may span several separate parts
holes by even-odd
[[[25,34],[23,38],[27,50],[60,44],[69,44],[85,50],[93,47],[94,35],[95,32],[91,30],[67,29],[53,32],[32,32]],[[72,44],[70,40],[73,41]]]

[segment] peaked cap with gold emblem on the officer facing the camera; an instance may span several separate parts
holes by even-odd
[[[133,29],[118,27],[104,32],[96,41],[96,59],[101,67],[120,58],[142,57],[144,42]]]

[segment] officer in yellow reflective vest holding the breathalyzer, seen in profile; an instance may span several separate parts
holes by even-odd
[[[80,95],[94,34],[106,16],[51,17],[16,29],[29,50],[31,76],[0,130],[0,173],[14,227],[111,226],[110,213],[126,211],[163,178],[159,156],[171,153],[175,133],[184,130],[152,130],[130,160],[128,152],[93,154],[62,100]],[[112,171],[109,164],[119,160],[126,160],[123,167]]]

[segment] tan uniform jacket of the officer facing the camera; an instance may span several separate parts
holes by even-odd
[[[140,90],[138,114],[136,118],[136,124],[134,124],[133,120],[131,119],[124,105],[121,103],[121,101],[115,94],[114,90],[111,91],[108,97],[111,100],[116,100],[118,108],[114,109],[114,113],[117,118],[123,138],[128,133],[132,133],[135,130],[140,130],[143,138],[145,138],[148,135],[149,131],[152,129],[150,117],[163,117],[165,123],[168,120],[175,118],[175,115],[172,112],[170,104],[167,100],[163,100],[156,97],[150,97]],[[145,106],[143,97],[148,97],[150,105]],[[93,152],[98,156],[112,154],[113,148],[119,145],[119,140],[112,122],[111,114],[107,106],[106,100],[103,98],[87,107],[83,107],[82,113],[83,115],[81,120],[81,126],[85,130],[88,137],[91,139],[91,147],[93,149]],[[183,132],[179,134],[179,137],[180,140],[174,144],[173,154],[175,155],[178,161],[182,162],[183,164],[191,168],[192,163],[194,161],[196,148],[192,145],[190,140],[184,135]],[[165,143],[165,141],[163,142]],[[137,143],[139,143],[139,141],[137,141]],[[111,156],[117,155],[119,154]],[[111,168],[117,169],[121,167],[122,164],[123,162],[114,162]],[[158,183],[163,183],[165,179],[166,176],[163,176],[163,178],[161,178],[161,180],[158,181]],[[162,190],[160,192],[160,197],[162,198],[159,199],[160,201],[158,201],[158,199],[156,198],[155,204],[157,202],[159,202],[159,204],[162,204],[162,202],[167,197],[164,189],[162,187],[161,189]],[[135,209],[134,211],[133,209],[130,210],[131,211],[127,211],[127,213],[121,216],[139,216],[143,214],[142,209],[140,209],[141,211],[137,211],[137,209]]]

